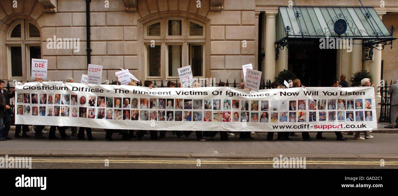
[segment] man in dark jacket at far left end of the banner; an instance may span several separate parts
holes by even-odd
[[[4,81],[0,80],[0,141],[12,140],[8,136],[8,131],[10,131],[11,127],[11,116],[12,113],[10,107],[10,98],[15,96],[15,89],[12,89],[12,92],[8,92],[4,89]],[[4,121],[4,127],[3,127]]]

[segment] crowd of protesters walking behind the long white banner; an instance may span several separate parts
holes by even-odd
[[[35,81],[38,82],[43,82],[43,80],[41,79],[41,77],[36,77]],[[65,82],[64,82],[65,83]],[[72,78],[68,78],[66,79],[66,83],[73,83],[73,79]],[[112,83],[112,85],[120,85],[120,82],[115,81]],[[137,84],[132,81],[130,82],[128,85],[131,86],[137,86]],[[371,84],[370,79],[363,79],[361,81],[361,85],[362,86],[375,86],[375,84]],[[397,88],[390,88],[390,90],[395,89],[395,91],[397,91],[398,89],[398,80],[394,82],[395,87]],[[152,88],[153,84],[152,81],[144,81],[144,86],[147,88]],[[181,84],[178,82],[177,84],[169,81],[167,83],[167,87],[180,87],[181,88]],[[227,86],[226,83],[224,82],[220,82],[218,84],[218,86]],[[294,79],[291,83],[289,83],[290,87],[293,88],[305,88],[305,86],[303,86],[300,82],[299,79]],[[330,82],[330,86],[333,87],[350,87],[349,83],[347,81],[345,81],[345,75],[341,75],[340,77],[340,81],[338,81],[337,79],[332,79],[332,81]],[[195,87],[200,87],[200,83],[195,82],[193,83],[193,85],[191,86],[193,88]],[[241,89],[246,89],[248,91],[250,91],[251,89],[247,89],[245,88],[245,84],[244,82],[240,83],[240,88]],[[271,88],[281,88],[281,85],[277,82],[273,82],[271,83]],[[8,135],[8,132],[10,131],[10,126],[12,124],[11,122],[11,117],[10,115],[12,114],[12,109],[10,107],[10,98],[13,98],[15,96],[15,90],[12,89],[10,90],[11,92],[8,92],[7,90],[4,89],[4,81],[0,80],[0,141],[6,141],[6,140],[11,140],[12,138]],[[389,94],[393,94],[396,95],[398,94],[398,92],[388,92]],[[397,98],[398,100],[398,98]],[[103,100],[98,100],[99,104],[101,104],[101,101]],[[395,100],[394,100],[395,101]],[[398,104],[398,101],[394,102],[396,104]],[[95,104],[95,103],[94,103]],[[398,105],[396,105],[398,106]],[[207,114],[206,114],[207,115]],[[396,117],[396,115],[395,115]],[[104,113],[104,119],[107,118],[107,114]],[[166,117],[167,118],[167,117]],[[209,117],[203,117],[203,121],[207,121],[206,119],[208,119]],[[266,119],[266,118],[265,118]],[[268,119],[266,119],[266,121],[268,121]],[[270,119],[270,121],[272,122],[273,119]],[[395,122],[395,120],[394,120]],[[3,126],[4,124],[4,126]],[[394,125],[390,125],[388,128],[392,128],[392,126]],[[395,125],[395,127],[397,127],[397,125]],[[20,136],[20,132],[21,132],[21,128],[22,128],[22,136]],[[37,139],[42,139],[45,138],[43,136],[43,134],[45,134],[46,132],[43,131],[43,129],[45,128],[44,125],[33,125],[32,126],[32,131],[35,134],[34,138]],[[69,140],[70,136],[66,135],[65,129],[67,127],[62,127],[62,126],[50,126],[50,131],[49,131],[49,139],[59,139],[58,137],[55,136],[55,131],[56,129],[58,129],[61,139],[62,140]],[[78,130],[78,131],[77,131]],[[71,136],[76,136],[78,139],[80,140],[86,140],[86,138],[84,137],[84,131],[86,131],[86,135],[87,135],[87,140],[96,140],[96,138],[94,138],[92,136],[92,131],[90,127],[80,127],[79,129],[77,129],[77,127],[71,127],[71,131],[72,134]],[[136,131],[136,133],[134,134],[134,131]],[[300,130],[302,131],[302,140],[304,141],[310,141],[312,140],[312,138],[310,137],[308,131],[305,130]],[[29,132],[29,127],[28,125],[16,125],[15,128],[15,138],[27,138],[30,137],[29,135],[27,135],[27,132]],[[185,136],[185,139],[189,139],[191,133],[193,131],[172,131],[172,134],[176,135],[178,138],[180,138],[181,136]],[[132,138],[137,138],[138,140],[142,140],[144,138],[144,135],[148,134],[146,130],[124,130],[124,129],[105,129],[105,139],[106,140],[113,140],[112,135],[113,133],[119,133],[119,135],[122,135],[122,139],[123,140],[131,140]],[[217,135],[217,131],[195,131],[195,135],[196,135],[196,140],[199,141],[205,141],[204,137],[210,137],[211,140],[214,139],[214,137]],[[344,138],[342,133],[340,131],[335,131],[336,133],[336,138],[337,140],[341,140],[344,141],[347,138]],[[361,136],[361,131],[355,131],[355,135],[352,133],[352,131],[349,131],[347,133],[347,135],[354,135],[354,139],[358,139],[358,140],[365,140],[365,139],[371,139],[373,138],[372,135],[370,135],[369,131],[363,131],[364,136]],[[247,131],[241,131],[239,133],[239,138],[240,139],[247,139],[247,140],[253,140],[254,137],[252,137],[251,135],[255,134],[254,132],[247,130]],[[158,136],[158,131],[155,130],[150,130],[149,131],[149,135],[150,135],[150,139],[152,140],[160,140],[160,139],[166,139],[168,138],[166,136],[166,131],[160,131],[160,134]],[[232,132],[227,132],[227,131],[220,131],[220,140],[229,140],[228,139],[228,135],[229,136],[234,136],[234,133]],[[294,132],[279,132],[277,135],[277,138],[274,138],[274,132],[267,132],[267,141],[277,141],[277,140],[291,140],[291,138],[289,138],[289,136],[298,136],[297,134],[295,134]],[[316,139],[325,139],[325,137],[322,136],[322,132],[318,132],[316,134]]]

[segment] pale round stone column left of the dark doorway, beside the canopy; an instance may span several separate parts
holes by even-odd
[[[275,36],[276,36],[276,14],[265,13],[265,65],[264,79],[275,80]]]

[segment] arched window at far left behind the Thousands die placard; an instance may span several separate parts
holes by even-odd
[[[7,33],[8,78],[30,79],[31,59],[41,58],[40,31],[30,21],[19,20]]]

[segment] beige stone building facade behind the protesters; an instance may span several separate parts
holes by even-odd
[[[80,81],[87,73],[85,0],[0,0],[0,78],[30,79],[30,59],[49,61],[49,79]],[[199,5],[200,3],[200,5]],[[243,79],[242,65],[252,63],[263,78],[289,66],[289,47],[275,59],[276,20],[281,0],[92,0],[90,3],[91,63],[103,65],[103,80],[115,80],[119,67],[137,78],[177,79],[176,68],[191,65],[195,77],[230,83]],[[357,0],[296,0],[297,6],[360,7]],[[387,27],[398,26],[398,1],[362,0],[373,7]],[[51,38],[78,38],[79,50],[49,48]],[[361,40],[358,40],[359,42]],[[358,42],[357,42],[358,43]],[[396,79],[394,48],[375,50],[364,60],[365,48],[336,50],[336,72],[347,75],[367,69],[374,82]],[[154,46],[154,47],[151,47]],[[305,50],[304,50],[305,51]],[[383,68],[381,61],[383,60]],[[292,60],[293,61],[293,60]],[[332,67],[334,69],[334,67]]]

